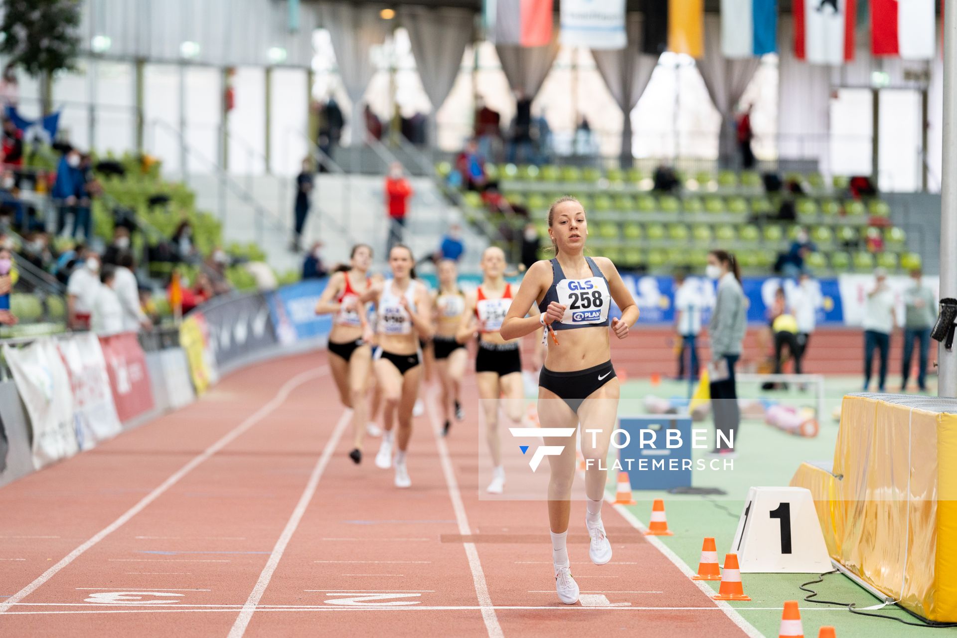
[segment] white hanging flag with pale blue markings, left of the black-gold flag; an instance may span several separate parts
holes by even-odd
[[[624,49],[625,0],[562,0],[561,42],[592,50]]]

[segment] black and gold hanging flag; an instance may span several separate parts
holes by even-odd
[[[701,57],[704,53],[703,0],[648,0],[644,52],[665,51]]]

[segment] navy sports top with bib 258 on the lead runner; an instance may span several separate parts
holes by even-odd
[[[539,303],[539,311],[545,312],[548,304],[557,301],[566,307],[565,317],[551,324],[553,330],[571,330],[572,328],[590,328],[609,325],[609,308],[612,295],[608,290],[608,279],[591,257],[585,257],[591,269],[587,279],[567,279],[558,259],[551,260],[551,286]]]

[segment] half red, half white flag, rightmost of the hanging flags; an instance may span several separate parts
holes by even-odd
[[[905,60],[934,56],[934,0],[871,0],[871,50]]]

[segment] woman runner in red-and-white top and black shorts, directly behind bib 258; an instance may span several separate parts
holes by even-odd
[[[505,281],[505,253],[502,253],[501,248],[493,246],[485,249],[481,255],[481,270],[481,285],[466,297],[458,341],[469,341],[478,328],[476,383],[479,385],[479,399],[485,414],[485,436],[492,453],[492,462],[495,464],[492,482],[486,492],[501,494],[505,487],[505,469],[501,465],[500,397],[504,396],[505,415],[513,424],[519,425],[522,421],[524,395],[522,355],[519,351],[521,340],[514,337],[506,340],[499,332],[501,321],[512,306],[512,285]],[[537,311],[535,315],[538,316]],[[541,328],[537,320],[535,319],[532,330],[528,332],[534,332],[536,326]],[[536,348],[537,358],[541,361],[541,350],[538,349],[541,344],[536,345]]]

